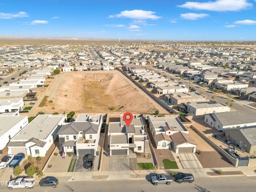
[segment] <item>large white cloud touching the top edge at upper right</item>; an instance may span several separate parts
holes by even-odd
[[[217,0],[208,2],[186,2],[179,7],[207,11],[239,11],[253,6],[247,0]]]

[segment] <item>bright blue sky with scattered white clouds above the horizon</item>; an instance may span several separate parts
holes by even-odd
[[[256,0],[0,0],[0,36],[256,41]]]

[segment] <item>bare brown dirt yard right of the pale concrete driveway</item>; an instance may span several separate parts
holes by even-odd
[[[226,157],[216,151],[202,151],[201,155],[196,156],[204,168],[234,167]]]

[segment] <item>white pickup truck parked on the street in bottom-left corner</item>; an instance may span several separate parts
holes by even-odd
[[[8,188],[33,188],[35,185],[35,178],[33,177],[18,177],[8,182]]]

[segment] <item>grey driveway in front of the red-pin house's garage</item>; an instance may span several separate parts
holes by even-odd
[[[128,155],[113,155],[109,160],[109,171],[129,171],[130,163]]]

